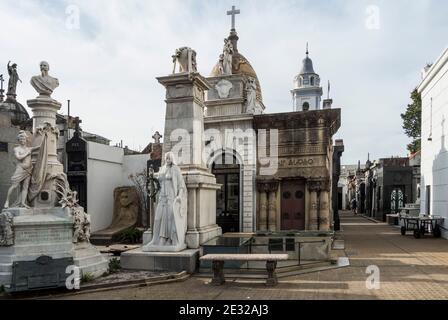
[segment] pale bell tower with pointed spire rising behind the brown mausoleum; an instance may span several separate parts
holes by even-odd
[[[320,77],[314,72],[313,61],[309,57],[308,43],[306,58],[303,59],[300,73],[294,79],[294,89],[291,90],[294,111],[322,109],[322,87]]]

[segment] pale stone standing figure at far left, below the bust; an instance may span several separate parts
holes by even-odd
[[[31,153],[39,147],[30,148],[27,146],[27,134],[20,131],[17,139],[20,145],[14,148],[14,156],[17,160],[16,171],[11,177],[11,187],[6,196],[4,208],[9,208],[11,196],[14,190],[19,189],[20,196],[14,207],[29,208],[27,204],[28,187],[30,185],[31,175],[33,173],[33,165],[31,163]]]

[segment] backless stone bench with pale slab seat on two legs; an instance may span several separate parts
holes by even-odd
[[[266,261],[266,270],[268,278],[266,279],[267,286],[277,285],[277,275],[275,268],[277,261],[288,260],[287,254],[207,254],[200,258],[202,261],[212,261],[213,265],[213,280],[212,285],[220,286],[226,282],[224,278],[224,263],[225,261]]]

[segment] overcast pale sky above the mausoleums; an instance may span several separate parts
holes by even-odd
[[[425,63],[448,45],[444,0],[0,0],[0,73],[8,60],[19,65],[26,105],[36,96],[29,79],[47,60],[63,113],[70,99],[84,130],[143,148],[154,131],[163,133],[165,91],[155,77],[171,72],[182,46],[197,51],[208,76],[232,5],[241,10],[238,48],[258,74],[266,112],[292,111],[308,41],[316,72],[331,81],[334,107],[342,108],[335,138],[344,139],[343,162],[407,154],[400,113]]]

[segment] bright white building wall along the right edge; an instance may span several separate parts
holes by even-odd
[[[421,213],[427,213],[426,186],[430,186],[430,213],[443,216],[444,227],[448,228],[448,49],[426,73],[419,92],[422,94]],[[432,141],[428,140],[430,136]],[[448,238],[446,230],[443,236]]]

